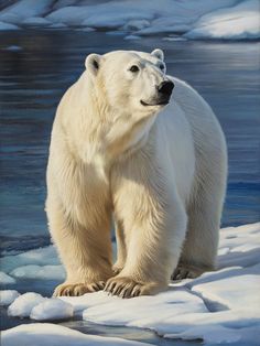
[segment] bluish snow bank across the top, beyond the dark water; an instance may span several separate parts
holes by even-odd
[[[9,26],[94,28],[130,35],[178,34],[189,40],[260,37],[258,0],[17,0],[0,12]]]

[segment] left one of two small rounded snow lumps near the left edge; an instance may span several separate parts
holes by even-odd
[[[41,294],[33,292],[22,294],[9,306],[8,314],[9,316],[29,317],[32,309],[45,300]]]

